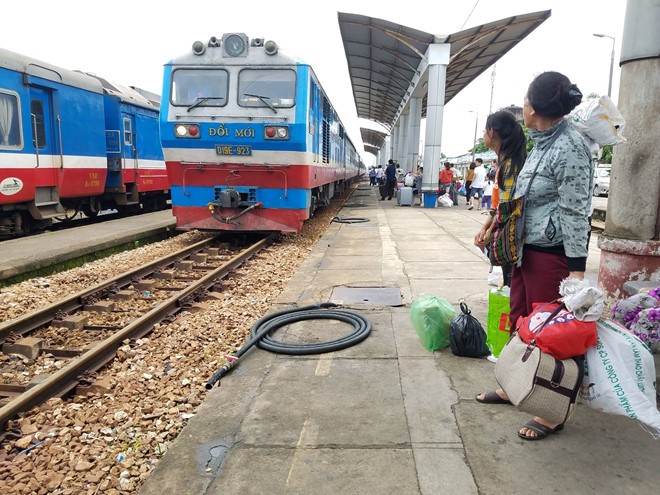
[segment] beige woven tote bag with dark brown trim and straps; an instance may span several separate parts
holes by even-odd
[[[575,406],[583,364],[581,357],[555,359],[514,332],[497,359],[495,379],[521,411],[564,423]]]

